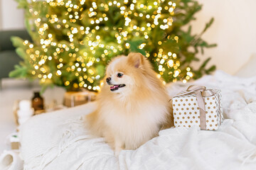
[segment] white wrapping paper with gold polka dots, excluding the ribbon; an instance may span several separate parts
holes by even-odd
[[[221,107],[221,91],[212,89],[213,95],[203,97],[206,106],[206,130],[218,130],[223,122]],[[191,128],[196,125],[200,128],[200,111],[196,94],[174,96],[172,99],[175,127]]]

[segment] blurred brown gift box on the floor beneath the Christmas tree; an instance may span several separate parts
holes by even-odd
[[[64,96],[64,105],[74,107],[95,101],[97,93],[92,91],[68,91]]]

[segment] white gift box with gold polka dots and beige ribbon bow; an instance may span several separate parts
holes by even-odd
[[[223,122],[221,92],[218,89],[192,85],[171,101],[175,127],[191,128],[196,125],[201,130],[218,130]]]

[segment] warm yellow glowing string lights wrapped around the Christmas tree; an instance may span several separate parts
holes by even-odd
[[[26,53],[33,65],[31,74],[41,81],[48,79],[53,84],[69,88],[84,87],[100,91],[100,79],[104,77],[107,62],[112,57],[122,55],[124,50],[129,51],[133,45],[131,40],[136,38],[143,41],[137,47],[146,52],[146,57],[152,57],[158,63],[157,77],[167,75],[176,81],[181,73],[181,63],[176,53],[161,48],[166,40],[178,42],[178,36],[169,35],[157,42],[154,42],[153,36],[154,30],[171,30],[176,8],[174,1],[149,1],[143,4],[136,0],[105,3],[46,0],[31,1],[31,6],[37,3],[52,10],[43,16],[36,8],[29,8],[40,43],[38,45],[25,40],[23,45],[27,47]],[[54,12],[60,10],[63,13],[61,15]],[[110,16],[110,10],[119,12],[119,19],[124,21],[123,26],[110,27],[110,23],[115,22],[113,16]],[[114,35],[112,42],[106,40],[109,34]],[[158,51],[148,51],[150,43],[154,43]],[[187,67],[183,82],[186,83],[191,77],[193,73]]]

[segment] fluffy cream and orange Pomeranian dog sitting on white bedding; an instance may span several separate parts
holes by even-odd
[[[115,57],[107,66],[97,109],[86,118],[87,128],[105,137],[117,155],[173,126],[170,107],[165,86],[149,61],[140,53],[130,53]]]

